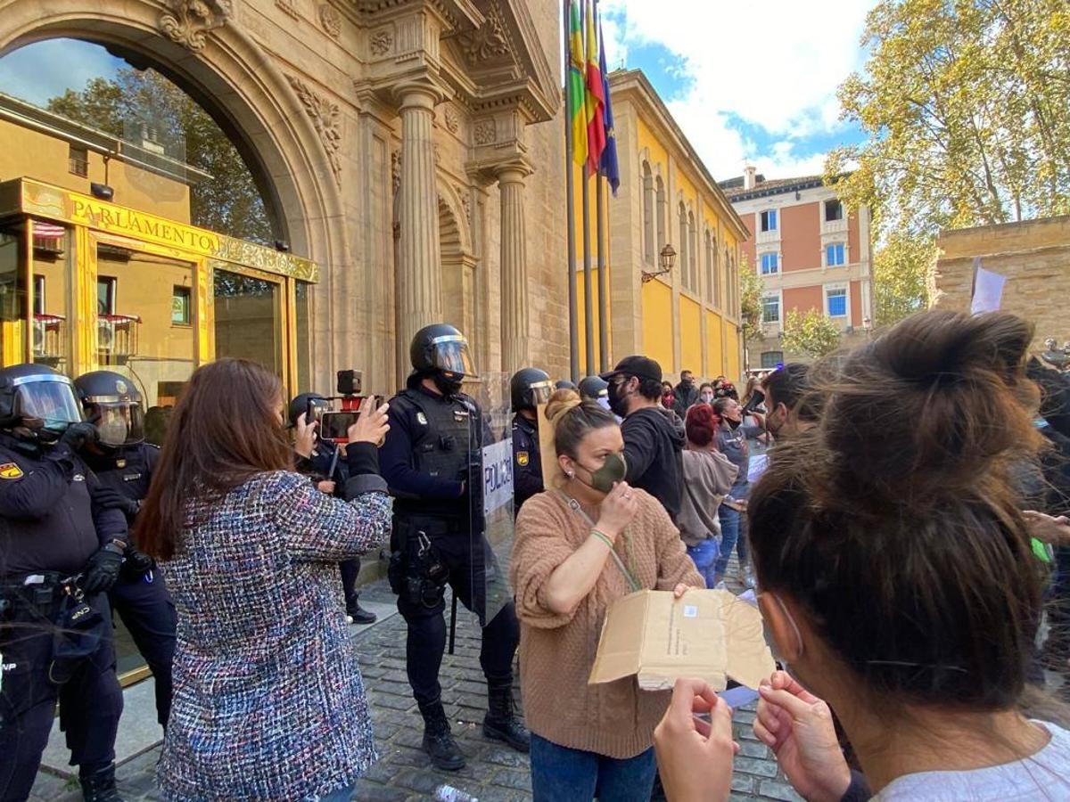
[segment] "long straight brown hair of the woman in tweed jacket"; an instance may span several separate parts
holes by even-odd
[[[292,467],[279,410],[282,385],[256,363],[218,359],[194,371],[174,407],[149,495],[138,547],[168,560],[182,550],[186,505],[221,495],[255,474]]]

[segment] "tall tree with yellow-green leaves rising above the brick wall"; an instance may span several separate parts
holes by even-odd
[[[839,91],[869,136],[826,174],[886,231],[1070,212],[1070,6],[1066,0],[883,0],[870,59]]]

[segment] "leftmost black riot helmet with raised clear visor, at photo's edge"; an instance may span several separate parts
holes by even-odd
[[[0,428],[16,436],[55,443],[81,420],[74,385],[47,365],[13,365],[0,370]]]

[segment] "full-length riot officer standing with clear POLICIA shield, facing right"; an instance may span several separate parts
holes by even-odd
[[[513,708],[520,632],[511,600],[496,615],[485,607],[500,569],[483,530],[482,483],[473,488],[469,481],[484,421],[478,405],[460,391],[463,377],[475,373],[468,341],[453,326],[426,326],[413,338],[410,357],[413,373],[391,400],[391,430],[379,458],[395,497],[391,586],[408,624],[406,667],[424,716],[424,750],[438,768],[456,771],[464,757],[450,734],[439,684],[445,586],[483,624],[479,663],[489,697],[484,735],[526,752],[528,730]]]

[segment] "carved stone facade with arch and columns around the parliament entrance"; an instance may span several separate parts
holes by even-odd
[[[0,48],[49,35],[0,0]],[[376,391],[408,337],[463,328],[483,373],[568,368],[557,4],[49,0],[64,35],[138,53],[242,140],[276,237],[317,262],[314,385]],[[82,35],[82,34],[74,34]],[[309,388],[311,389],[311,388]]]

